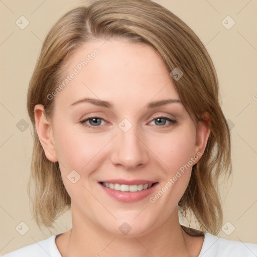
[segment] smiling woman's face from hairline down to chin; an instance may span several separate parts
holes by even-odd
[[[152,48],[119,39],[103,43],[87,43],[68,59],[65,86],[49,96],[55,107],[52,148],[45,153],[60,164],[73,221],[143,235],[177,220],[208,130],[200,125],[197,133]]]

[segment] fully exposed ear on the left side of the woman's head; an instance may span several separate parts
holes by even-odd
[[[37,134],[45,155],[49,161],[57,162],[52,126],[46,118],[45,108],[42,104],[35,105],[34,115]]]

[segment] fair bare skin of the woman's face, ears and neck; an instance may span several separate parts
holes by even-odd
[[[99,49],[99,54],[54,97],[51,119],[45,117],[43,105],[35,106],[40,142],[47,158],[59,162],[72,202],[72,229],[58,236],[56,245],[62,256],[69,257],[198,256],[204,237],[186,234],[178,219],[178,202],[192,166],[155,203],[149,197],[190,158],[204,153],[210,133],[208,115],[196,130],[182,103],[148,109],[146,105],[152,101],[180,99],[161,57],[144,44],[120,39],[103,43],[87,43],[69,57],[66,76],[84,56]],[[70,106],[84,97],[111,102],[113,108],[88,102]],[[102,118],[96,129],[80,123],[91,114]],[[162,119],[159,124],[156,116],[177,122]],[[127,132],[118,126],[124,118],[132,124]],[[92,120],[89,122],[93,126]],[[67,178],[72,170],[80,175],[75,184]],[[118,178],[159,184],[149,197],[121,203],[97,183]],[[132,228],[125,235],[119,230],[123,222]]]

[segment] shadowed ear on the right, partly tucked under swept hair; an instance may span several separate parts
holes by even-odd
[[[197,155],[198,157],[201,157],[203,155],[205,147],[207,145],[207,141],[210,135],[209,124],[210,124],[210,117],[209,117],[209,114],[205,112],[203,114],[203,120],[198,122],[198,128],[196,132],[195,155]],[[199,158],[198,161],[200,159],[201,158]]]

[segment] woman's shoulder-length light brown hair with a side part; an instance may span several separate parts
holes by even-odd
[[[35,183],[33,214],[37,224],[52,227],[71,206],[58,162],[50,162],[35,129],[34,107],[43,104],[51,118],[54,100],[48,99],[65,71],[65,60],[93,39],[124,38],[152,47],[171,72],[180,99],[196,126],[204,112],[210,116],[210,136],[202,158],[193,166],[189,185],[179,202],[203,231],[216,234],[222,224],[218,190],[221,174],[230,174],[230,133],[219,104],[218,79],[212,60],[196,34],[176,15],[150,0],[98,0],[69,11],[52,27],[30,80],[27,108],[34,127],[34,149],[29,181]]]

